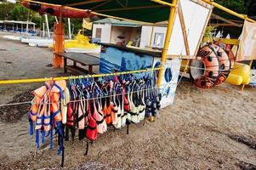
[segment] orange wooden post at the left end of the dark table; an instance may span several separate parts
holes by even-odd
[[[54,24],[54,68],[63,68],[64,59],[55,53],[64,52],[64,24],[60,20],[59,23]]]

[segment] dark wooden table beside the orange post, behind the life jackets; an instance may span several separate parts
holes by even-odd
[[[93,74],[93,66],[100,65],[100,58],[90,54],[78,54],[78,53],[56,53],[60,57],[64,58],[64,72],[70,70],[79,75],[84,73]],[[67,59],[73,61],[73,65],[67,65]],[[77,66],[77,63],[88,66],[88,71]]]

